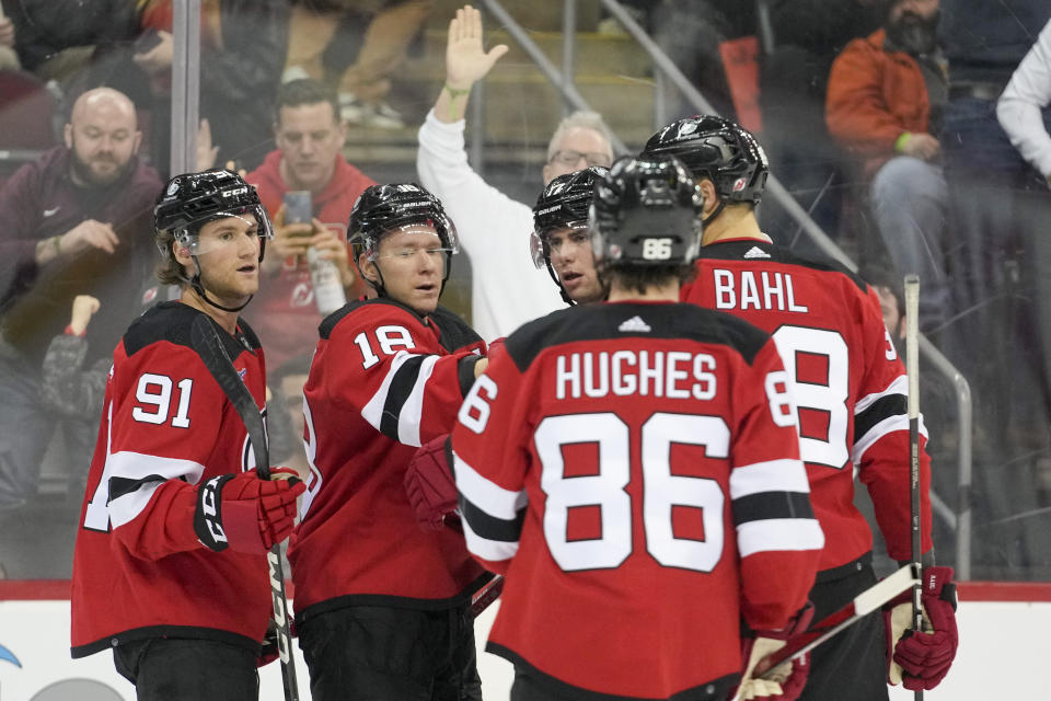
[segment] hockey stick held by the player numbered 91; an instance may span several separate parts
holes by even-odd
[[[222,345],[215,322],[201,313],[194,319],[190,327],[190,343],[204,360],[211,377],[219,383],[222,393],[233,404],[238,416],[244,423],[244,429],[252,443],[255,455],[255,471],[261,480],[270,479],[270,456],[266,445],[266,426],[263,415],[255,404],[252,392],[244,386],[233,360]],[[291,631],[288,622],[288,598],[285,596],[285,567],[281,565],[281,547],[274,543],[266,554],[269,568],[270,596],[274,600],[274,623],[277,625],[277,653],[281,660],[281,681],[285,683],[285,701],[299,701],[299,686],[296,683],[296,660],[292,658]]]

